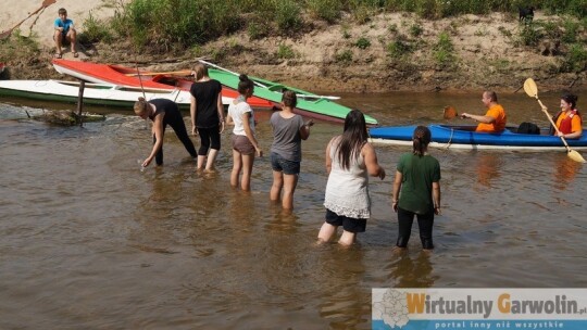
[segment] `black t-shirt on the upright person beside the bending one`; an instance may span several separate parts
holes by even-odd
[[[218,126],[216,102],[222,85],[214,79],[191,84],[189,92],[196,99],[196,126],[211,128]]]

